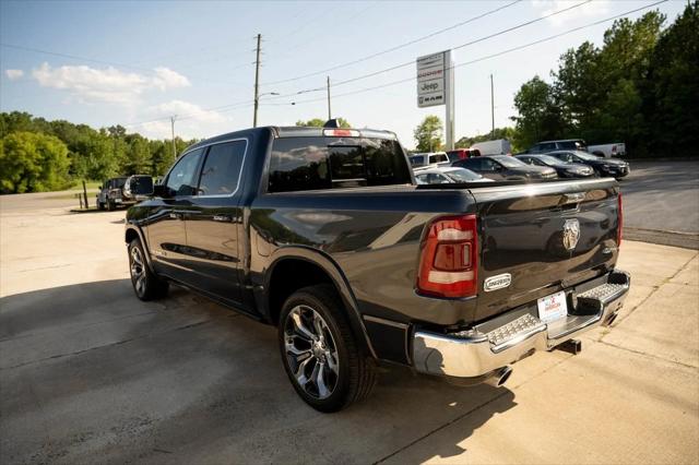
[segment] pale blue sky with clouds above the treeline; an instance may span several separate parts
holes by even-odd
[[[581,3],[578,1],[1,1],[0,109],[104,127],[120,123],[152,138],[204,138],[252,123],[254,36],[263,37],[259,124],[293,124],[328,114],[331,82],[414,61]],[[652,1],[594,0],[529,26],[454,51],[455,134],[511,124],[519,86],[549,80],[560,53],[583,40],[600,45],[611,22],[501,57],[463,64],[570,31]],[[655,7],[668,23],[686,1]],[[488,11],[498,12],[358,63],[287,82],[391,49]],[[648,10],[644,10],[648,11]],[[630,14],[638,17],[644,11]],[[14,48],[16,46],[23,48]],[[34,51],[25,48],[34,49]],[[38,50],[58,55],[43,53]],[[67,57],[70,56],[70,57]],[[443,107],[417,108],[415,65],[333,86],[333,116],[357,128],[395,131],[413,147],[413,129]],[[400,80],[406,82],[381,86]],[[299,94],[299,92],[301,92]],[[316,100],[316,102],[308,102]],[[295,105],[292,105],[292,103]]]

